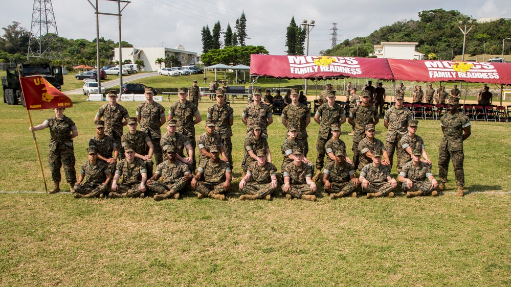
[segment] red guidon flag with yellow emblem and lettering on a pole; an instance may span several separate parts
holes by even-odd
[[[19,77],[27,110],[72,108],[73,102],[42,76]]]

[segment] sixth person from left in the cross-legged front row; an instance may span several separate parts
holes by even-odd
[[[293,150],[295,159],[286,165],[282,170],[284,185],[282,193],[287,200],[299,198],[309,201],[316,201],[316,183],[312,181],[312,171],[307,164],[304,164],[303,154],[300,149]]]

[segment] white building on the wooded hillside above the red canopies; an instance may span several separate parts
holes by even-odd
[[[382,42],[374,45],[374,54],[377,58],[424,60],[424,54],[415,51],[417,42]]]

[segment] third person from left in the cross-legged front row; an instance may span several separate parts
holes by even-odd
[[[179,199],[179,193],[192,179],[192,173],[185,163],[176,160],[176,149],[174,145],[167,148],[167,160],[158,164],[156,172],[147,181],[147,187],[151,192],[156,193],[154,200],[160,201],[168,198]],[[159,182],[158,179],[162,178]]]

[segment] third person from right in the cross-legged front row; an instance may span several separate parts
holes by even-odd
[[[353,166],[344,160],[345,153],[342,150],[337,150],[335,156],[336,160],[328,162],[323,170],[325,192],[330,194],[330,199],[346,195],[357,197],[355,190],[360,181],[355,177]]]

